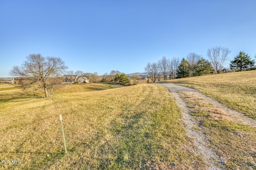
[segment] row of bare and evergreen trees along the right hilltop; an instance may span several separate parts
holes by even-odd
[[[181,60],[176,57],[171,59],[162,57],[158,62],[147,63],[144,70],[148,73],[152,82],[202,76],[213,74],[214,72],[219,74],[222,71],[227,71],[227,69],[224,68],[224,64],[228,61],[228,55],[230,53],[231,51],[228,48],[216,46],[207,50],[206,55],[209,61],[204,59],[202,55],[189,53],[186,59],[182,58]],[[256,58],[256,55],[254,57]],[[250,59],[248,54],[240,51],[230,63],[230,69],[232,71],[243,71],[252,69],[255,61]]]

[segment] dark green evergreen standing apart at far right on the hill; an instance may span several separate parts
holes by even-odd
[[[234,60],[230,62],[230,69],[235,71],[248,70],[248,68],[252,68],[255,64],[255,61],[251,60],[250,56],[245,54],[244,51],[240,51]]]

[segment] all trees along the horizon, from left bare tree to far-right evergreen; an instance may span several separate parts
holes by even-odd
[[[188,54],[186,59],[183,58],[181,61],[175,57],[172,59],[162,57],[158,62],[148,63],[144,70],[148,72],[152,82],[160,81],[161,78],[167,80],[212,74],[214,70],[220,73],[230,52],[226,47],[212,47],[207,51],[210,61],[196,53]],[[256,55],[254,57],[256,58]],[[254,65],[255,60],[252,60],[244,51],[240,51],[234,60],[230,61],[230,69],[233,71],[250,70]],[[136,84],[140,79],[138,75],[127,77],[126,74],[118,70],[112,70],[110,74],[105,73],[103,76],[99,76],[97,72],[84,73],[81,70],[67,72],[67,69],[68,66],[59,57],[30,54],[20,66],[13,66],[9,74],[21,77],[20,85],[24,89],[42,90],[45,97],[53,96],[54,92],[62,86],[62,75],[65,73],[85,76],[91,82],[115,82],[124,85],[130,84],[130,80]]]

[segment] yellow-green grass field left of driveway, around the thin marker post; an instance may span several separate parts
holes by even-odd
[[[205,167],[190,152],[180,109],[162,86],[74,84],[51,98],[5,88],[0,91],[0,160],[10,164],[0,164],[1,169]],[[12,165],[14,160],[20,164]]]

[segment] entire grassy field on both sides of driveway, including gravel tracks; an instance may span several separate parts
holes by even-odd
[[[42,98],[1,84],[0,169],[256,169],[255,71],[164,83],[203,94],[72,84]]]

